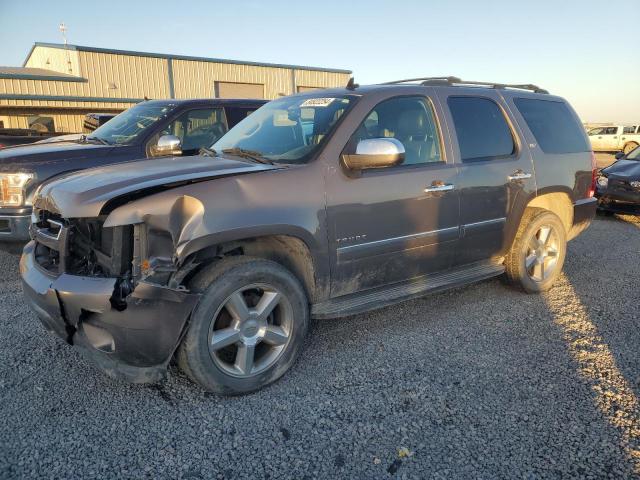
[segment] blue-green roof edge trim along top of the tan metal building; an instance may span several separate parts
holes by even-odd
[[[27,59],[24,62],[26,65],[27,60],[31,56],[31,53],[36,47],[48,47],[48,48],[60,48],[67,50],[74,50],[79,52],[94,52],[94,53],[106,53],[112,55],[129,55],[134,57],[151,57],[151,58],[164,58],[167,60],[188,60],[193,62],[211,62],[211,63],[230,63],[234,65],[252,65],[256,67],[269,67],[269,68],[286,68],[293,70],[313,70],[320,72],[330,72],[330,73],[345,73],[351,74],[351,70],[342,70],[337,68],[322,68],[322,67],[310,67],[306,65],[287,65],[280,63],[262,63],[262,62],[246,62],[242,60],[229,60],[224,58],[210,58],[210,57],[192,57],[188,55],[172,55],[165,53],[150,53],[150,52],[137,52],[132,50],[115,50],[111,48],[98,48],[98,47],[86,47],[81,45],[63,45],[61,43],[44,43],[44,42],[36,42],[33,47],[31,47],[31,51],[29,55],[27,55]]]

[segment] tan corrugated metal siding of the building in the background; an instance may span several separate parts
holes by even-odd
[[[0,99],[0,111],[2,107],[79,109],[82,112],[124,110],[134,105],[131,101],[134,99],[170,96],[167,58],[65,50],[37,45],[25,66],[69,73],[67,59],[71,61],[72,73],[86,78],[87,82],[0,78],[0,94],[93,97],[95,101]],[[329,88],[346,85],[349,79],[347,73],[321,70],[293,70],[185,59],[173,59],[171,62],[176,98],[211,98],[215,95],[216,81],[262,84],[264,98],[273,99],[296,93],[298,85]],[[112,88],[112,85],[116,88]],[[106,98],[130,101],[99,101]]]

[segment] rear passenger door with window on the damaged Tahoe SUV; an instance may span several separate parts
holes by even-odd
[[[504,249],[517,201],[535,192],[528,148],[502,97],[490,90],[442,91],[460,175],[461,238],[454,264],[488,260]],[[472,93],[471,93],[472,92]]]

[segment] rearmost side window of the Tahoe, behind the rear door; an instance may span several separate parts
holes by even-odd
[[[576,153],[591,150],[582,126],[564,102],[531,98],[515,98],[513,101],[543,152]]]

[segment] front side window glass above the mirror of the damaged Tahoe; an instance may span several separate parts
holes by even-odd
[[[402,165],[442,161],[433,108],[423,97],[398,97],[379,103],[352,135],[351,148],[372,138],[399,140],[405,150]]]

